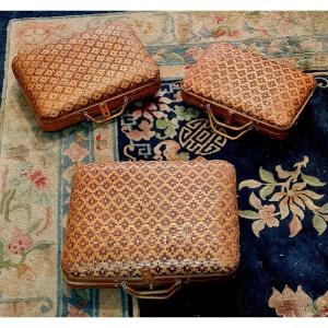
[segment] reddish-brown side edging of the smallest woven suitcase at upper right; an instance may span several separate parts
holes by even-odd
[[[313,89],[313,91],[309,93],[308,97],[306,98],[306,101],[304,102],[303,106],[300,108],[300,110],[297,112],[297,114],[295,115],[294,119],[292,120],[292,122],[285,127],[285,128],[279,128],[277,126],[263,122],[255,117],[250,117],[248,115],[242,114],[239,112],[234,110],[233,108],[230,108],[225,105],[222,104],[218,104],[214,103],[212,101],[209,101],[202,96],[199,96],[192,92],[188,92],[186,91],[183,86],[181,86],[181,97],[186,103],[189,103],[194,106],[200,107],[202,109],[206,110],[206,105],[210,104],[211,105],[211,109],[213,112],[215,112],[216,115],[223,117],[223,118],[227,118],[227,117],[232,117],[233,116],[233,122],[236,124],[247,124],[249,121],[253,121],[254,124],[254,129],[258,130],[269,137],[272,137],[274,139],[285,139],[289,133],[290,133],[290,129],[292,128],[292,126],[296,122],[296,120],[298,119],[301,113],[304,110],[306,104],[308,103],[309,98],[312,97],[314,91],[315,91],[316,86]]]

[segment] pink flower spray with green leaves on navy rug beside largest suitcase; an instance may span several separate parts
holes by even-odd
[[[255,189],[259,195],[258,198],[253,191],[249,197],[249,204],[257,212],[239,211],[241,218],[256,220],[251,225],[255,235],[259,236],[260,231],[266,226],[278,227],[280,221],[290,218],[290,237],[294,237],[303,227],[302,221],[306,211],[313,213],[312,223],[318,235],[327,230],[328,203],[316,204],[316,201],[324,198],[325,195],[308,189],[309,186],[323,187],[326,184],[317,177],[302,172],[307,163],[308,157],[304,156],[303,161],[294,164],[294,171],[285,171],[281,165],[277,165],[276,172],[279,179],[276,179],[273,173],[260,167],[260,181],[248,179],[239,184],[239,190],[246,187]]]

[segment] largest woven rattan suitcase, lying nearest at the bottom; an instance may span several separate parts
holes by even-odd
[[[75,288],[167,298],[231,278],[239,260],[236,181],[224,161],[113,162],[77,168],[62,254]]]

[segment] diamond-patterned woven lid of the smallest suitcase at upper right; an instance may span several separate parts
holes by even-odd
[[[289,127],[316,82],[312,75],[229,44],[211,45],[183,87],[237,113]]]

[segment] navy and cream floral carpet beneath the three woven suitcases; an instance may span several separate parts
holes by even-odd
[[[131,24],[161,67],[162,90],[114,122],[40,132],[10,70],[13,56],[116,19]],[[11,21],[1,109],[0,316],[327,316],[327,12]],[[181,102],[184,66],[213,42],[317,75],[319,86],[288,140],[250,132],[227,141],[211,132],[203,113]],[[167,301],[139,306],[120,291],[66,286],[59,263],[77,163],[198,157],[227,160],[237,169],[242,261],[233,281],[184,286]]]

